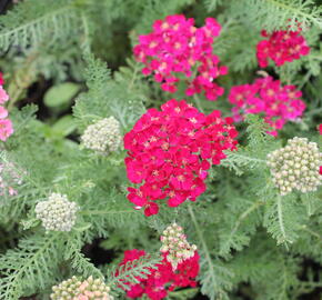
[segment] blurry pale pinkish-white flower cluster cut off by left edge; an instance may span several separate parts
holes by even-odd
[[[16,187],[23,183],[22,179],[26,173],[12,162],[3,161],[0,163],[0,197],[18,194]]]

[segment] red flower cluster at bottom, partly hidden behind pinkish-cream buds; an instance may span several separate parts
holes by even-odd
[[[119,266],[124,266],[128,261],[137,260],[142,256],[145,256],[144,250],[127,250],[124,259]],[[173,271],[165,256],[164,253],[163,260],[157,264],[157,269],[150,269],[151,273],[148,278],[137,277],[140,283],[130,286],[130,290],[127,292],[129,298],[139,298],[145,293],[149,299],[161,300],[167,297],[168,291],[173,291],[175,288],[197,286],[195,277],[199,273],[199,254],[197,251],[192,258],[179,263],[175,271]]]

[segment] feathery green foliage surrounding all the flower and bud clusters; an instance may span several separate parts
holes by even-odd
[[[200,286],[168,299],[321,299],[322,192],[278,197],[266,154],[294,136],[319,142],[322,122],[321,1],[313,0],[24,0],[4,1],[0,17],[0,69],[10,94],[14,134],[0,144],[1,160],[27,170],[16,197],[0,199],[0,299],[49,299],[53,284],[73,274],[115,281],[147,272],[158,261],[160,232],[174,219],[201,256]],[[4,3],[3,2],[3,3]],[[183,99],[143,78],[131,48],[155,19],[184,13],[202,26],[222,24],[214,53],[229,67],[215,102],[188,99],[207,113],[230,114],[232,86],[258,77],[255,46],[265,28],[301,22],[310,56],[265,69],[303,91],[306,110],[273,139],[261,118],[238,126],[241,147],[211,169],[207,192],[178,209],[162,206],[145,218],[127,200],[129,184],[120,150],[109,157],[81,150],[87,126],[114,116],[122,132],[147,108]],[[72,232],[46,233],[34,206],[50,192],[81,207]],[[151,253],[130,274],[113,276],[128,249]],[[22,298],[24,297],[24,298]]]

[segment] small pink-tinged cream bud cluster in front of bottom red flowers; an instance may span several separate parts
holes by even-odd
[[[161,236],[162,247],[161,252],[168,253],[167,260],[171,263],[173,270],[182,261],[192,258],[197,250],[197,246],[190,246],[187,241],[187,237],[183,233],[182,227],[173,223],[169,226]]]

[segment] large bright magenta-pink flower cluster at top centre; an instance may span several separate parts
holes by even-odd
[[[220,31],[221,26],[213,18],[195,28],[192,18],[168,16],[153,23],[151,33],[139,37],[134,56],[145,66],[142,73],[152,73],[164,91],[175,92],[175,84],[184,76],[187,96],[204,92],[209,100],[217,100],[223,94],[223,88],[213,81],[228,72],[227,67],[219,66],[219,57],[212,53],[213,40]]]

